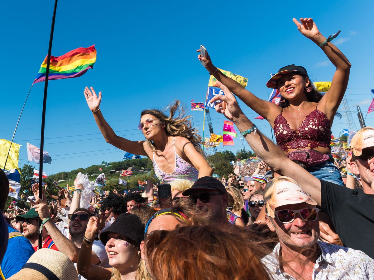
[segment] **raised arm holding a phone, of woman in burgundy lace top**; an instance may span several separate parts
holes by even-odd
[[[197,50],[200,52],[200,50]],[[205,62],[206,69],[213,75],[218,81],[226,85],[229,90],[239,97],[249,108],[267,119],[270,124],[273,124],[274,119],[278,116],[282,108],[275,105],[272,102],[263,100],[255,96],[250,91],[246,90],[242,85],[234,81],[233,79],[224,75],[217,67],[215,67],[211,61],[211,57],[206,52],[206,57],[198,56],[199,60]]]

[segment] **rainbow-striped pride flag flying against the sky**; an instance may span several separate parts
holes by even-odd
[[[48,80],[80,77],[93,68],[96,62],[95,45],[88,48],[71,50],[62,56],[50,56]],[[47,57],[44,59],[34,83],[46,80]]]

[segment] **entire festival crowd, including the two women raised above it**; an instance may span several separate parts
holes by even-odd
[[[162,184],[101,196],[79,173],[72,195],[36,183],[30,208],[19,209],[5,205],[9,181],[1,170],[1,279],[374,279],[374,128],[359,130],[344,161],[334,160],[331,125],[351,65],[331,43],[338,33],[326,38],[313,19],[293,20],[336,67],[323,96],[304,67],[288,65],[267,82],[280,91],[280,105],[258,99],[215,67],[205,47],[198,50],[224,91],[210,102],[219,101],[215,110],[261,159],[234,165],[228,177],[212,177],[179,101],[169,112],[142,111],[145,140],[130,141],[105,121],[101,92],[86,87],[104,139],[150,158]],[[269,121],[276,144],[236,98]]]

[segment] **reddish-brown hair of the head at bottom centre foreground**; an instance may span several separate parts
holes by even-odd
[[[239,227],[189,225],[154,231],[146,243],[148,270],[154,279],[268,280],[263,249]]]

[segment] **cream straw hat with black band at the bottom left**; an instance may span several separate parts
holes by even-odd
[[[52,249],[39,249],[24,267],[7,280],[78,280],[73,262],[64,254]]]

